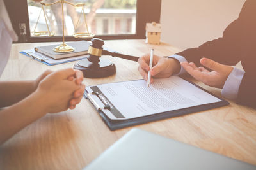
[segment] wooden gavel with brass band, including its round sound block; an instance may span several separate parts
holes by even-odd
[[[89,46],[88,55],[86,59],[79,60],[74,65],[74,69],[83,71],[86,78],[101,78],[111,76],[116,73],[115,64],[110,60],[100,58],[102,55],[111,55],[112,57],[120,57],[122,59],[138,61],[139,57],[132,55],[124,55],[121,53],[110,52],[102,48],[104,41],[99,38],[92,39],[92,45]]]

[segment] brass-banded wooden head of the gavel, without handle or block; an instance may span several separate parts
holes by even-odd
[[[93,64],[97,64],[100,62],[99,57],[102,55],[102,46],[104,45],[104,41],[99,38],[93,38],[92,39],[92,45],[89,46],[88,49],[88,60],[92,62]]]

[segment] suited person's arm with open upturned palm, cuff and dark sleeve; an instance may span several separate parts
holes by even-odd
[[[223,88],[221,94],[236,99],[237,104],[256,108],[256,80],[253,72],[233,69],[213,60],[202,58],[200,63],[211,69],[197,67],[193,62],[181,62],[181,66],[196,80],[212,87]]]

